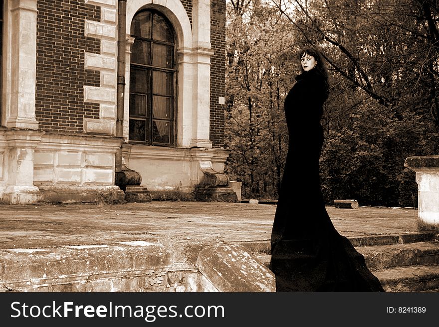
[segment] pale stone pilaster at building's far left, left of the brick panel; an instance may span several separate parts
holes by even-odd
[[[9,128],[37,129],[35,119],[36,79],[36,0],[11,0],[8,3],[5,30],[10,33],[10,71],[6,84],[9,106],[5,125]],[[9,29],[10,28],[10,29]]]

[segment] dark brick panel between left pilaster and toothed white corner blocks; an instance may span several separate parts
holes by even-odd
[[[84,0],[38,0],[35,116],[42,130],[82,132],[83,118],[99,118],[99,104],[84,103],[84,85],[100,73],[84,69],[84,52],[100,53],[100,40],[84,35],[85,19],[101,8]]]

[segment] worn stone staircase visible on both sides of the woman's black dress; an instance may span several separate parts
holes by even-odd
[[[439,292],[439,234],[417,232],[349,238],[386,292]],[[268,267],[268,241],[245,243]]]

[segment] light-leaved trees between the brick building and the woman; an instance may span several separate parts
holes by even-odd
[[[244,197],[273,197],[280,187],[287,132],[283,98],[291,85],[287,21],[273,8],[252,3],[227,7],[225,146],[227,173],[243,182]]]

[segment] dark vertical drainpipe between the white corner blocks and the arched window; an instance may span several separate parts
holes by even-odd
[[[127,0],[118,1],[116,136],[123,137]],[[116,152],[116,173],[122,171],[122,146]]]

